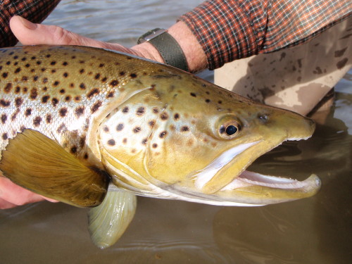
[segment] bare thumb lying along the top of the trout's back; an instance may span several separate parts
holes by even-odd
[[[23,45],[80,45],[105,48],[103,42],[80,36],[56,25],[34,24],[18,15],[10,20],[10,27],[15,37]]]

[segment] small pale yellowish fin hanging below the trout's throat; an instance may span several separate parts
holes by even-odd
[[[100,206],[89,210],[89,233],[100,249],[112,246],[132,221],[137,197],[126,191],[108,191]]]

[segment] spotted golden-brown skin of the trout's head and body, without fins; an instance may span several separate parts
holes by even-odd
[[[166,65],[89,47],[23,46],[0,49],[0,82],[1,150],[37,130],[135,194],[259,205],[320,186],[313,177],[291,189],[226,189],[258,156],[310,137],[313,122]]]

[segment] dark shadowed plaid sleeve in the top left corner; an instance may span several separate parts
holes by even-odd
[[[18,40],[11,32],[9,21],[20,15],[33,23],[41,23],[60,0],[3,0],[0,1],[0,47],[14,46]]]

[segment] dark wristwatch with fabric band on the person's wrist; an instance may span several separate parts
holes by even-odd
[[[180,44],[168,33],[167,30],[156,28],[139,37],[137,43],[151,43],[158,51],[166,64],[189,71],[186,57]]]

